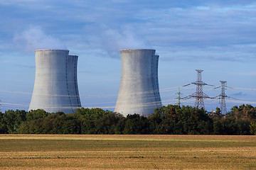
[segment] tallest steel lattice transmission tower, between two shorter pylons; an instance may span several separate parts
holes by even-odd
[[[210,98],[210,97],[203,93],[203,86],[206,86],[206,85],[213,86],[213,85],[206,84],[205,82],[202,81],[201,73],[203,72],[203,69],[196,69],[196,72],[197,72],[197,81],[190,83],[190,84],[196,85],[196,93],[186,96],[183,99],[188,99],[192,97],[196,98],[195,107],[204,109],[205,107],[203,103],[203,98]],[[188,86],[190,84],[186,84],[185,86]]]

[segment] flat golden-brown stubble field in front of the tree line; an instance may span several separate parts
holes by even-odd
[[[256,169],[256,136],[0,135],[0,169]]]

